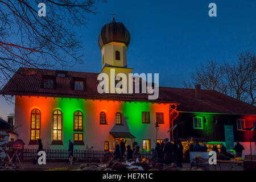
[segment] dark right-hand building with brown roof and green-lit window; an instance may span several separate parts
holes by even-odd
[[[256,107],[238,101],[214,90],[203,90],[200,85],[195,89],[162,88],[168,90],[169,96],[180,104],[179,115],[172,125],[174,139],[187,141],[193,137],[200,142],[208,143],[208,150],[217,145],[220,151],[223,143],[228,150],[239,141],[245,150],[243,155],[250,154],[250,134],[246,128],[256,123]],[[181,123],[182,122],[182,123]],[[256,154],[256,135],[251,131],[252,153]]]

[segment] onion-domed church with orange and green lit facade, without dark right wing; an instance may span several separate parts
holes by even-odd
[[[133,71],[127,68],[129,42],[130,33],[122,23],[113,19],[102,28],[102,73]],[[115,139],[125,138],[150,150],[156,120],[162,123],[158,137],[170,137],[170,106],[177,102],[164,94],[151,101],[147,93],[100,94],[98,75],[20,68],[1,94],[15,96],[15,126],[20,125],[17,132],[25,147],[38,147],[36,139],[41,138],[46,148],[68,148],[71,139],[77,149],[108,150]]]

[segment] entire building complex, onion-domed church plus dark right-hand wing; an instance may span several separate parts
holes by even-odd
[[[113,19],[102,28],[98,38],[101,73],[110,75],[114,69],[116,76],[133,71],[127,67],[129,43],[130,33],[122,23]],[[100,94],[98,75],[20,68],[1,94],[15,96],[15,126],[22,125],[17,131],[25,147],[37,147],[36,139],[42,138],[46,148],[68,148],[71,139],[77,149],[109,150],[115,139],[125,138],[150,150],[155,146],[155,123],[159,123],[158,142],[194,137],[231,149],[240,140],[247,152],[249,138],[243,128],[255,122],[254,106],[199,86],[159,87],[157,100],[148,100],[148,93]]]

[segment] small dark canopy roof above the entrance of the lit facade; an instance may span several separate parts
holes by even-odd
[[[109,134],[112,135],[113,138],[136,138],[130,133],[126,118],[123,118],[122,125],[114,125]]]

